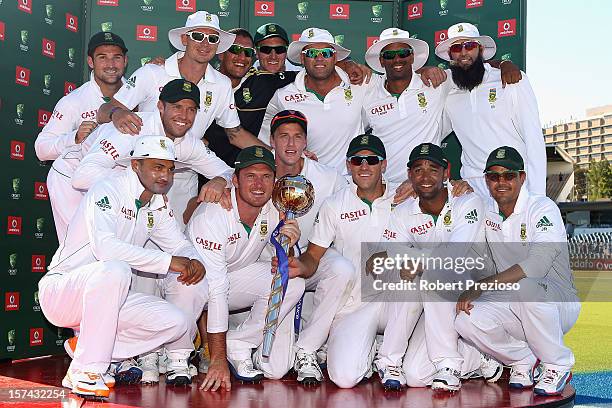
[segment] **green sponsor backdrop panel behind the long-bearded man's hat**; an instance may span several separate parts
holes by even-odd
[[[495,59],[511,59],[524,70],[526,7],[526,0],[403,0],[399,23],[411,36],[427,41],[427,65],[448,68],[448,63],[435,55],[435,46],[446,39],[448,27],[468,22],[495,40]],[[451,177],[460,178],[461,145],[455,134],[442,146],[451,162]]]

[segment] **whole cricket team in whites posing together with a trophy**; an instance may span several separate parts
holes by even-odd
[[[367,66],[325,29],[290,41],[274,23],[222,30],[206,11],[168,38],[176,53],[126,79],[124,41],[93,35],[90,80],[59,100],[36,139],[38,158],[53,161],[59,240],[40,304],[75,331],[63,386],[108,397],[160,374],[187,386],[199,371],[200,389],[217,391],[231,377],[293,370],[309,385],[375,375],[386,389],[453,392],[471,378],[495,382],[505,366],[512,388],[562,393],[574,365],[563,335],[580,303],[563,221],[545,196],[535,95],[511,61],[493,59],[491,37],[451,26],[435,48],[446,71],[426,67],[428,44],[399,28],[380,33]],[[441,146],[453,131],[460,180],[449,180]],[[296,219],[271,200],[285,175],[314,188]],[[276,234],[290,241],[286,262]],[[467,271],[481,285],[451,300],[366,296],[372,264],[410,251],[491,262]],[[264,355],[278,269],[288,282]],[[385,273],[457,275],[418,264]],[[521,289],[478,289],[487,284]]]

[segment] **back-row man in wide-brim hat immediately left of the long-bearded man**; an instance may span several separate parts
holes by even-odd
[[[364,103],[364,127],[385,143],[385,179],[393,183],[406,180],[407,152],[421,143],[441,141],[442,110],[451,81],[437,88],[425,85],[415,71],[428,57],[427,43],[399,28],[383,30],[365,54],[368,65],[385,75]]]

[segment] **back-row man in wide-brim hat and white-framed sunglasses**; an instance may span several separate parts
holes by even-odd
[[[226,129],[230,142],[239,147],[259,144],[240,126],[231,81],[209,64],[215,54],[230,48],[235,37],[219,28],[215,14],[206,11],[191,14],[184,27],[168,32],[170,43],[179,51],[164,66],[146,64],[136,70],[113,100],[100,108],[98,122],[112,120],[122,133],[137,134],[142,121],[131,109],[154,112],[162,87],[173,79],[187,79],[200,89],[201,108],[190,130],[196,138],[201,139],[214,120]],[[196,173],[179,171],[175,185],[169,198],[172,207],[182,214],[189,199],[198,195]]]

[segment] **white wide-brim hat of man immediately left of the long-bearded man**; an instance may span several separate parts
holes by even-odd
[[[414,50],[414,62],[412,70],[416,71],[425,65],[429,58],[429,45],[423,40],[410,38],[408,31],[399,28],[387,28],[380,33],[379,40],[372,44],[366,51],[366,63],[375,71],[385,73],[385,68],[380,64],[380,52],[389,44],[404,43],[408,44]]]

